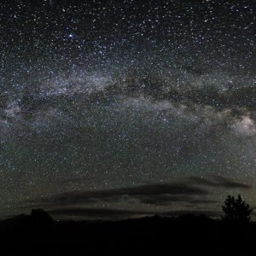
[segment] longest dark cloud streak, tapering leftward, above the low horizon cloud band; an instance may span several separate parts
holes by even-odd
[[[96,191],[73,191],[55,195],[38,201],[27,201],[29,203],[41,203],[42,205],[75,205],[90,204],[101,201],[114,202],[120,198],[136,199],[146,202],[148,199],[160,198],[164,201],[167,196],[168,201],[184,201],[185,195],[208,195],[206,189],[201,189],[187,183],[171,183],[171,184],[148,184],[123,189],[108,189]]]

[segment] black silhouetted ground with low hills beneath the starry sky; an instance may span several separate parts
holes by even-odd
[[[0,255],[254,255],[256,224],[204,216],[158,216],[119,222],[54,222],[32,210],[0,223]]]

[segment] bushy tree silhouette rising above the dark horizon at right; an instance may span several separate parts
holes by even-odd
[[[253,211],[246,201],[242,200],[241,195],[237,198],[228,195],[222,210],[224,212],[222,219],[227,222],[249,222]]]

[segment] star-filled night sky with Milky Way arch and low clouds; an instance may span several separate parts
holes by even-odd
[[[256,3],[0,3],[0,218],[256,206]]]

